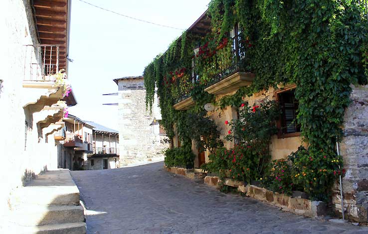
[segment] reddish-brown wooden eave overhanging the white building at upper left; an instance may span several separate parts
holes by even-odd
[[[31,4],[40,44],[59,45],[59,69],[66,69],[70,0],[31,0]]]

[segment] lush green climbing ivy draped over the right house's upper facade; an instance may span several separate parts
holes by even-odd
[[[214,101],[201,86],[231,62],[230,43],[224,38],[239,23],[241,42],[251,45],[244,47],[245,70],[254,73],[255,79],[251,86],[220,99],[218,106],[238,107],[243,97],[255,92],[296,84],[297,118],[304,140],[312,148],[331,150],[342,136],[351,84],[367,84],[366,12],[358,0],[211,0],[208,15],[212,31],[205,36],[184,33],[146,67],[147,107],[152,107],[156,85],[161,122],[168,136],[174,135],[176,125],[181,140],[191,144],[187,123],[195,118],[188,114],[205,117],[200,100]],[[194,56],[198,43],[202,54]],[[190,77],[192,59],[199,81],[190,84],[187,93],[196,102],[187,111],[176,111],[178,77],[170,72],[185,68],[184,75]]]

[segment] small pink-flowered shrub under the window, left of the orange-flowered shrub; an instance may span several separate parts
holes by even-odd
[[[264,178],[261,178],[261,183],[271,191],[291,195],[294,184],[288,162],[284,159],[273,160],[270,167]]]

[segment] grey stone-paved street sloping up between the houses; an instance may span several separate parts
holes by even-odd
[[[162,162],[71,174],[88,210],[88,234],[368,233],[367,227],[304,218],[220,193],[167,172]]]

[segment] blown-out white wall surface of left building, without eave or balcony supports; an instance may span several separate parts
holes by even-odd
[[[0,211],[8,209],[8,199],[17,187],[47,169],[58,167],[60,142],[45,135],[34,121],[34,113],[23,108],[32,90],[22,81],[29,60],[27,44],[39,44],[29,0],[5,0],[0,7]],[[27,54],[29,57],[29,54]],[[28,63],[26,63],[26,61]],[[39,93],[41,95],[41,93]],[[2,214],[0,214],[1,216]],[[1,225],[0,225],[1,226]]]

